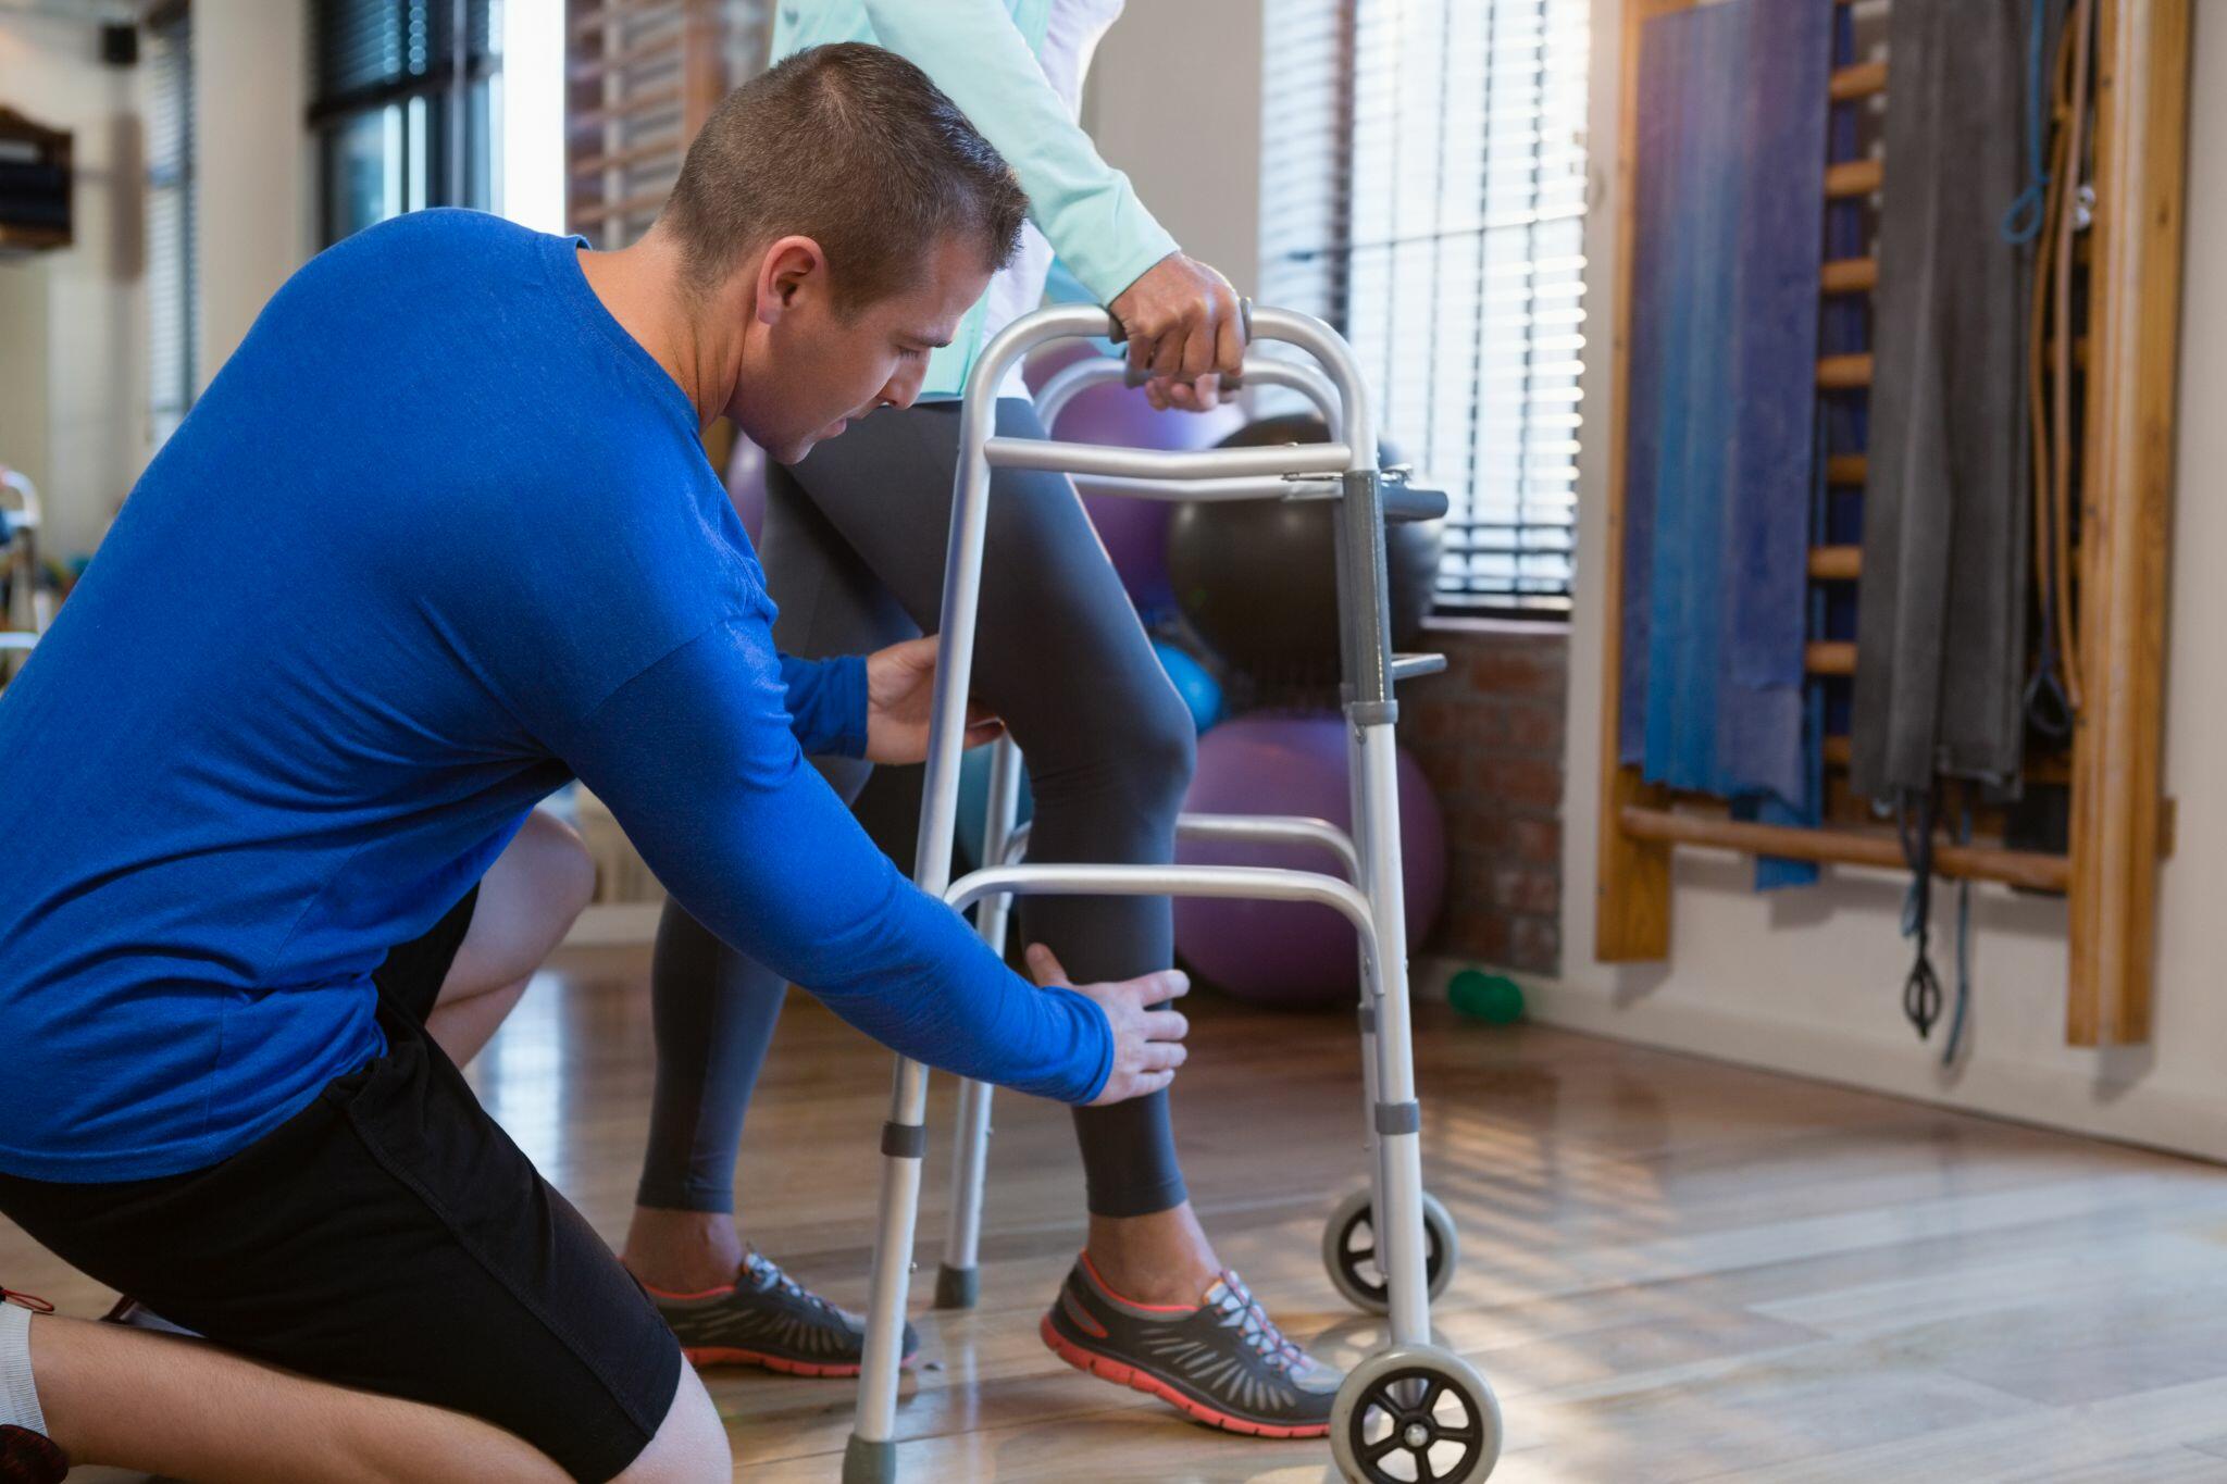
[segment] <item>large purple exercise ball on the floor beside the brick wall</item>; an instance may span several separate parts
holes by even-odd
[[[1352,828],[1345,719],[1249,714],[1198,739],[1187,814],[1312,814]],[[1421,765],[1399,754],[1407,943],[1421,946],[1445,897],[1445,823]],[[1338,874],[1312,845],[1183,841],[1187,865],[1283,865]],[[1312,901],[1176,899],[1176,952],[1207,983],[1265,1006],[1352,1003],[1361,990],[1345,914]]]

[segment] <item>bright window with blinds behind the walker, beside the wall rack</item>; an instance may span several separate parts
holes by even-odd
[[[1443,612],[1568,610],[1590,0],[1267,0],[1260,298],[1452,498]]]

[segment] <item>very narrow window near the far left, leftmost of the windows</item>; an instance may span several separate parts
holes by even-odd
[[[163,447],[194,405],[194,47],[183,4],[147,20],[147,429]]]

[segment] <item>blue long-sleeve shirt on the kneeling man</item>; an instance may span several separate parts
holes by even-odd
[[[568,238],[372,227],[265,307],[0,692],[0,1170],[247,1146],[383,1050],[370,972],[570,776],[717,934],[924,1061],[1065,1101],[1105,1017],[1011,975],[804,763],[695,412]]]

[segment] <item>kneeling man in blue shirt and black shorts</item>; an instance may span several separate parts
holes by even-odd
[[[583,899],[579,776],[688,910],[924,1061],[1167,1086],[1178,975],[1016,979],[804,765],[933,641],[775,654],[697,436],[906,405],[1027,202],[909,62],[799,53],[612,258],[461,211],[265,307],[0,699],[0,1213],[216,1346],[0,1304],[0,1484],[728,1477],[673,1335],[457,1061]],[[702,189],[704,182],[717,189]]]

